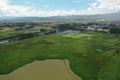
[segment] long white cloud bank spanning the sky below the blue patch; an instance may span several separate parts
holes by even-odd
[[[0,16],[65,16],[65,15],[91,15],[120,11],[120,0],[96,0],[87,10],[56,10],[39,11],[34,7],[12,5],[12,0],[0,0]],[[45,1],[45,0],[40,0]],[[79,2],[81,0],[74,0]],[[48,5],[45,6],[46,8]]]

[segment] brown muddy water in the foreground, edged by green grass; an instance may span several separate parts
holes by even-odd
[[[70,70],[68,60],[45,60],[27,64],[0,80],[82,80]]]

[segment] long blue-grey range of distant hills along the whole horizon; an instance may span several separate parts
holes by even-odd
[[[119,21],[120,12],[98,15],[70,15],[70,16],[52,16],[52,17],[0,17],[0,21],[32,21],[32,20],[62,20],[62,19],[77,19],[77,20],[105,20]]]

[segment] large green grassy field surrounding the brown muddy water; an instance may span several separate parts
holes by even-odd
[[[60,33],[1,44],[0,74],[46,59],[68,59],[83,80],[120,80],[120,36]]]

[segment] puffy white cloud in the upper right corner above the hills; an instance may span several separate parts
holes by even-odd
[[[117,12],[120,11],[120,0],[97,0],[88,10],[96,14]]]

